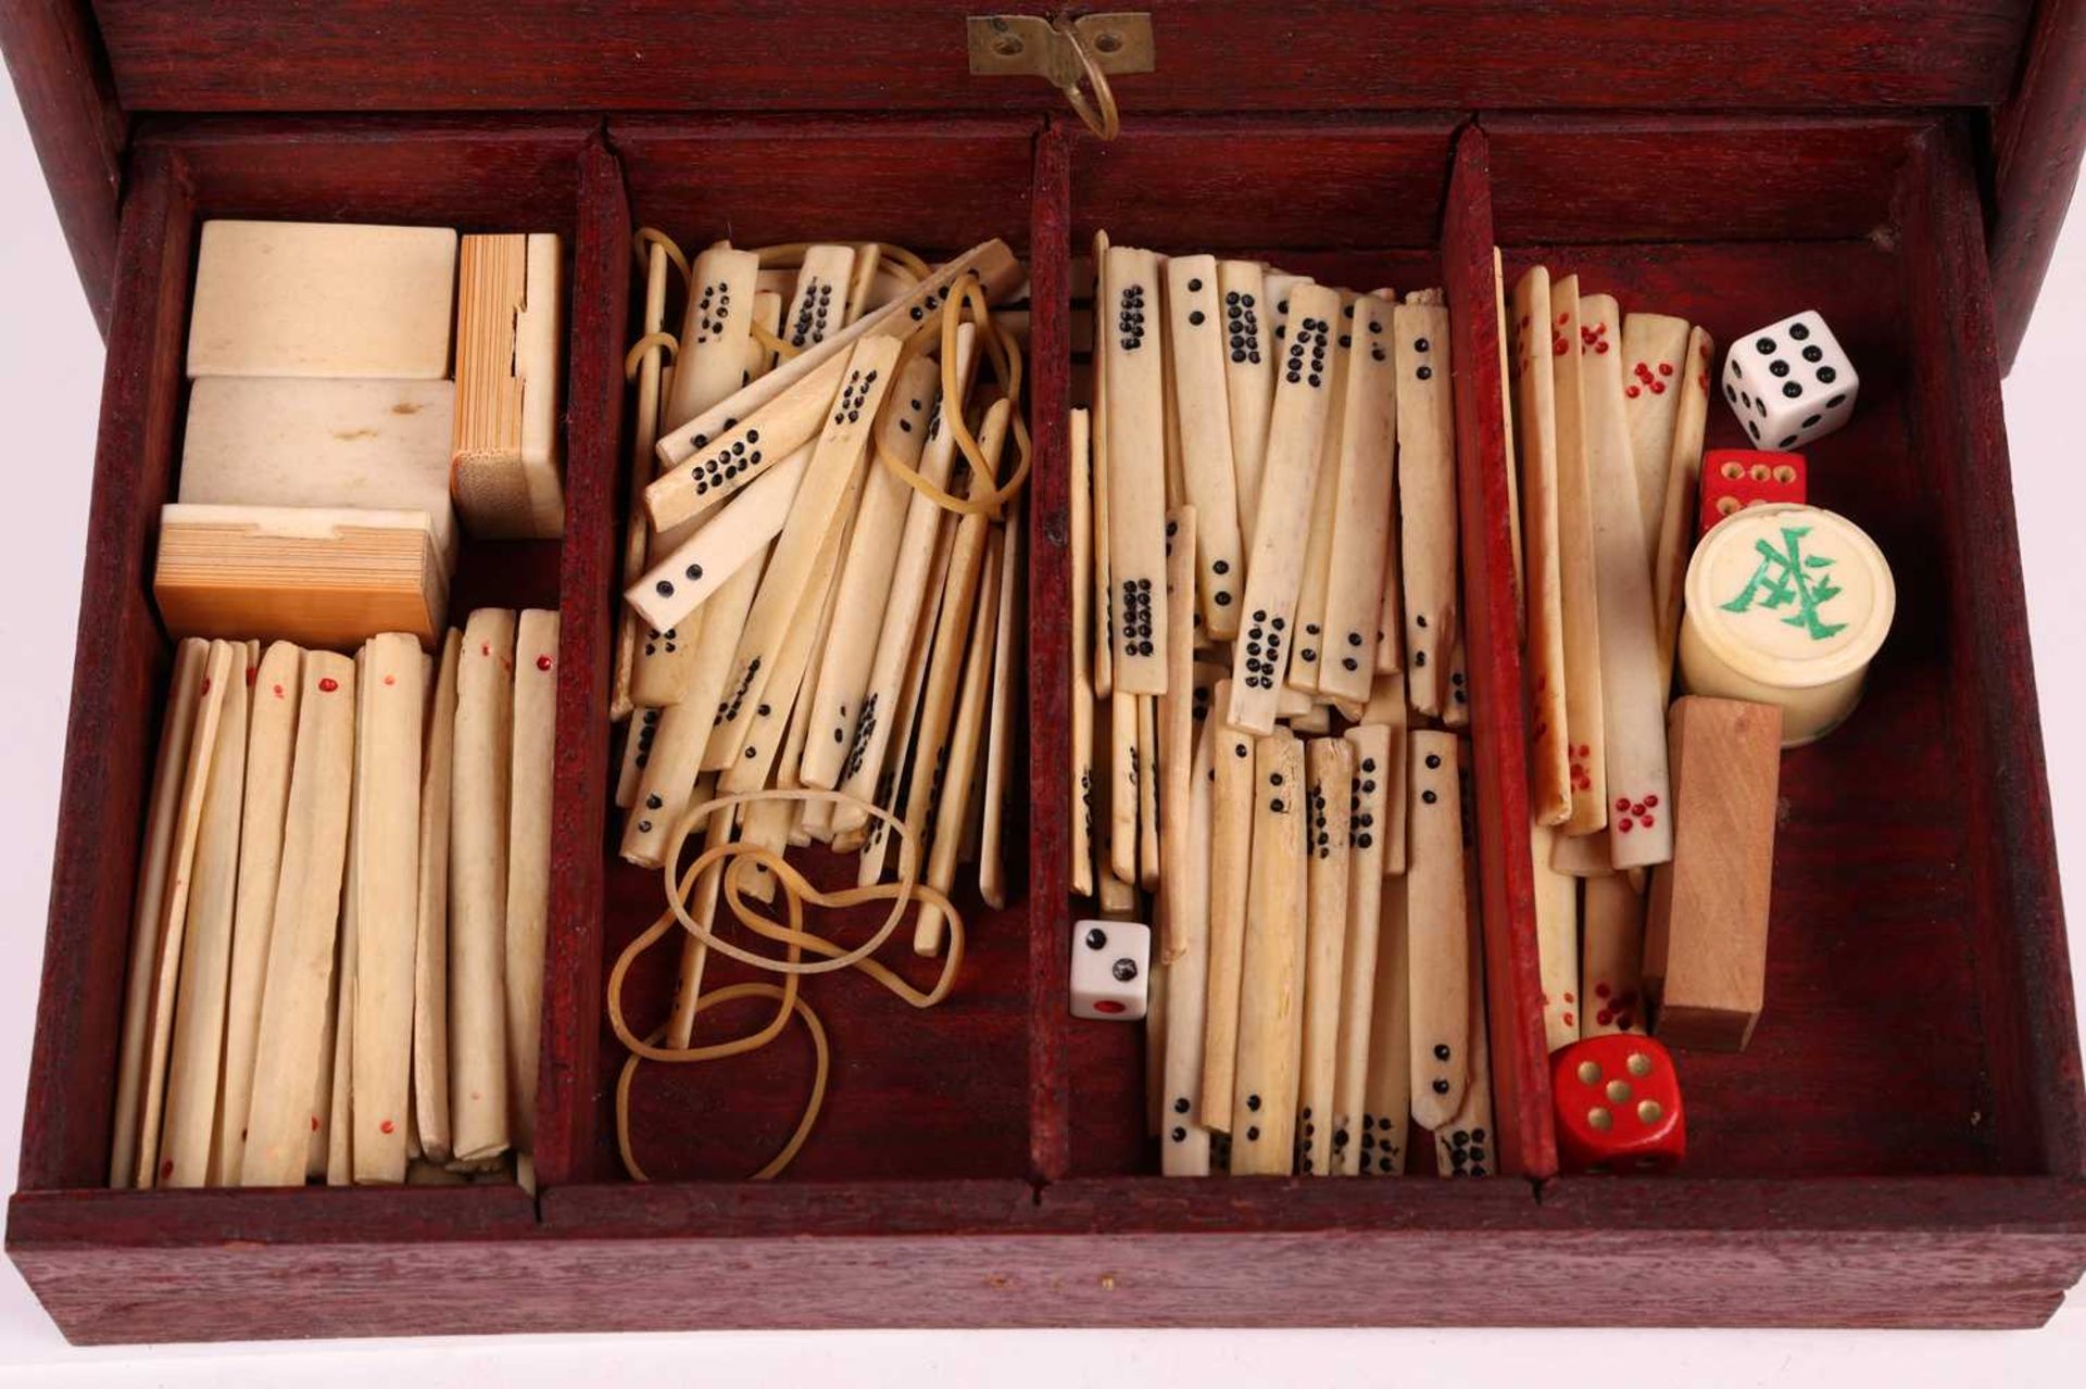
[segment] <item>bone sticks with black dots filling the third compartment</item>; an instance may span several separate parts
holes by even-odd
[[[1483,1141],[1471,1155],[1489,1076],[1452,732],[1471,692],[1444,296],[1158,261],[1106,234],[1095,250],[1095,419],[1072,419],[1070,476],[1072,886],[1158,930],[1162,1166],[1391,1174],[1418,1122],[1444,1162],[1498,1170]],[[1531,490],[1554,507],[1554,482]],[[1168,567],[1147,599],[1135,546],[1154,526]],[[1560,607],[1556,580],[1529,590]],[[1558,672],[1558,707],[1562,690]],[[1562,763],[1552,780],[1562,815]]]

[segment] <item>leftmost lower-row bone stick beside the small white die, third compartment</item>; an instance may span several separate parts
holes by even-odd
[[[1160,1170],[1166,1176],[1210,1174],[1210,1130],[1202,1118],[1202,1047],[1210,978],[1210,834],[1216,749],[1229,742],[1214,722],[1202,726],[1187,776],[1187,834],[1166,857],[1164,922],[1181,943],[1166,966],[1166,1057],[1160,1087]]]

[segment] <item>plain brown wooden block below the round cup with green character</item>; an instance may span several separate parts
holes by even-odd
[[[1652,872],[1644,991],[1660,1041],[1744,1051],[1767,997],[1781,709],[1688,697],[1667,730],[1673,861]]]

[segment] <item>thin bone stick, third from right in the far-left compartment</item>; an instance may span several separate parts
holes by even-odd
[[[428,697],[419,759],[419,891],[413,941],[413,1118],[421,1153],[448,1162],[448,797],[457,745],[457,663],[463,632],[448,630]],[[250,776],[250,774],[248,774]],[[250,799],[252,793],[248,793]]]

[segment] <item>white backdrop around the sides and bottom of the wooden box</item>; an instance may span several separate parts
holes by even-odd
[[[58,236],[13,86],[0,83],[0,478],[13,530],[0,544],[0,1172],[15,1189],[29,1032],[35,1016],[58,759],[71,692],[79,563],[100,403],[102,344]],[[2078,513],[2078,390],[2086,377],[2086,219],[2067,227],[2028,346],[2007,382],[2015,505],[2051,795],[2065,882],[2086,882],[2086,722],[2057,717],[2086,699],[2086,546]],[[2086,959],[2076,893],[2071,957]],[[2080,970],[2073,968],[2073,978]],[[2086,993],[2086,991],[2082,991]],[[438,1287],[428,1289],[440,1297]],[[816,1287],[803,1289],[809,1299]],[[690,1301],[701,1289],[688,1289]],[[1039,1331],[1039,1333],[711,1333],[672,1337],[511,1337],[311,1345],[73,1351],[13,1264],[0,1270],[0,1383],[209,1385],[371,1383],[511,1387],[630,1383],[1247,1383],[1487,1385],[1617,1370],[1679,1385],[2080,1383],[2086,1291],[2046,1331],[1702,1333],[1539,1331]],[[2061,1372],[2059,1366],[2071,1370]]]

